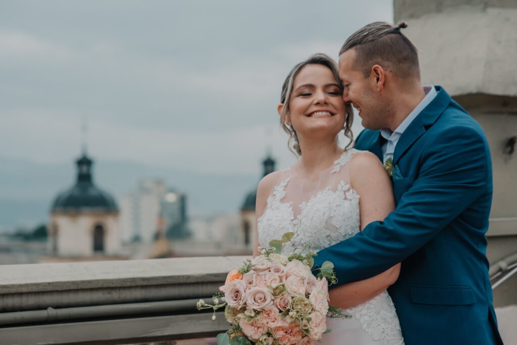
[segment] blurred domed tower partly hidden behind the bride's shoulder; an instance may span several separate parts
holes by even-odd
[[[264,169],[264,172],[262,174],[262,177],[270,174],[271,172],[275,171],[275,160],[271,158],[271,156],[268,154],[266,156],[266,159],[262,161],[262,166]],[[240,218],[241,218],[241,227],[242,227],[242,234],[244,235],[244,245],[246,248],[253,250],[253,247],[255,246],[254,241],[254,234],[255,234],[255,202],[257,198],[257,189],[256,187],[249,192],[246,195],[246,198],[244,199],[244,203],[242,204],[242,207],[240,208]]]

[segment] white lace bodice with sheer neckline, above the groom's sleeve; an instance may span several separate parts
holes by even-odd
[[[344,151],[317,181],[300,178],[293,168],[281,171],[257,219],[260,245],[268,247],[271,240],[293,231],[298,248],[309,245],[317,252],[354,236],[360,228],[359,195],[350,186],[348,162],[356,151]],[[286,243],[282,251],[291,253],[292,244]]]

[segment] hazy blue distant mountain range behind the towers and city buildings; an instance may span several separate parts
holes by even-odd
[[[261,177],[212,175],[94,157],[94,183],[117,199],[136,190],[142,178],[161,178],[187,194],[189,215],[237,212]],[[0,156],[0,231],[47,222],[55,196],[75,183],[75,163],[43,164]]]

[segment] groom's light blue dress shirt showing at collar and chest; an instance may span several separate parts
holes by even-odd
[[[381,129],[381,135],[383,138],[388,140],[381,147],[383,152],[383,163],[386,163],[388,158],[393,159],[393,152],[395,152],[395,147],[397,146],[397,142],[399,141],[402,133],[404,133],[409,124],[413,122],[418,114],[420,114],[420,112],[436,97],[436,89],[432,85],[425,85],[423,87],[423,91],[425,92],[425,97],[420,101],[420,103],[418,103],[415,109],[407,115],[404,121],[399,124],[399,127],[397,127],[396,130],[391,132],[389,128]]]

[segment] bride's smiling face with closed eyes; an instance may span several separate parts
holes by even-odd
[[[330,69],[307,65],[296,76],[289,103],[289,118],[298,137],[327,133],[338,135],[345,122],[345,103]]]

